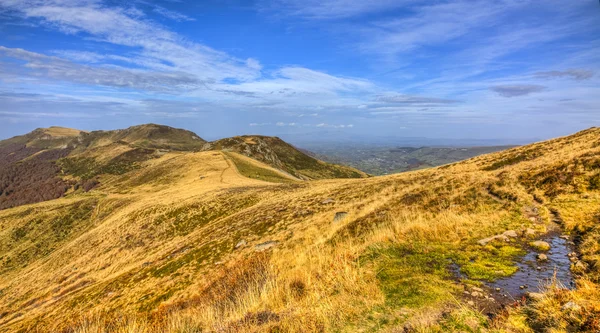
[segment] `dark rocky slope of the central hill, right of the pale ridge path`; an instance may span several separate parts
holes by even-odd
[[[350,167],[319,161],[277,137],[236,136],[211,142],[210,149],[233,151],[300,179],[362,178],[367,176]]]

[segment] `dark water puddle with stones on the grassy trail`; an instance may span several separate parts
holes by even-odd
[[[552,280],[555,272],[556,279],[565,288],[573,289],[575,287],[570,270],[571,261],[568,257],[568,254],[573,252],[573,247],[567,240],[560,238],[556,232],[546,235],[542,240],[551,246],[550,251],[545,252],[548,260],[537,261],[538,252],[530,250],[517,263],[519,270],[515,274],[488,284],[492,289],[500,288],[500,291],[495,292],[496,295],[494,295],[497,300],[511,301],[521,298],[526,292],[539,292],[541,286]],[[526,286],[526,288],[521,289],[521,286]]]

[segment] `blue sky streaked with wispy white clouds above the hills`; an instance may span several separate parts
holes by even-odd
[[[0,0],[0,139],[538,140],[600,126],[598,0]]]

